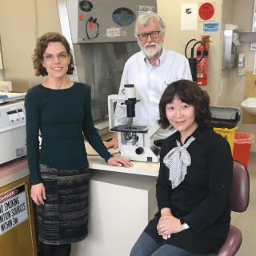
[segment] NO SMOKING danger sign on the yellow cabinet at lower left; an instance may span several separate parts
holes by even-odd
[[[0,195],[0,235],[28,218],[25,183]]]

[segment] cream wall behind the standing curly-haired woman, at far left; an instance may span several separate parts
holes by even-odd
[[[1,0],[0,33],[7,81],[25,92],[45,78],[34,75],[31,55],[36,39],[48,31],[61,32],[55,0]]]

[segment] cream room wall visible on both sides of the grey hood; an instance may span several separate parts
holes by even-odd
[[[186,43],[191,38],[201,38],[202,23],[197,30],[181,31],[181,5],[206,2],[204,0],[157,0],[158,14],[166,22],[164,46],[184,54]],[[211,33],[209,50],[208,91],[212,105],[238,106],[244,99],[246,77],[239,77],[237,70],[223,71],[223,94],[218,97],[218,83],[222,67],[222,31],[226,22],[236,22],[244,31],[251,31],[254,0],[215,0],[215,21],[220,23],[220,32]],[[61,32],[58,8],[55,0],[0,0],[0,35],[6,80],[13,82],[14,91],[26,91],[45,78],[35,77],[31,55],[36,38],[48,31]],[[246,52],[246,70],[253,70],[254,52],[250,44],[238,47],[238,53]],[[190,55],[190,53],[189,53]],[[238,130],[256,135],[256,125],[243,124]],[[252,145],[256,152],[256,143]]]

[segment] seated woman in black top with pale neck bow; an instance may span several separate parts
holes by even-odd
[[[162,143],[158,213],[130,255],[218,254],[230,228],[233,158],[225,138],[209,128],[210,98],[195,82],[167,86],[159,103]]]

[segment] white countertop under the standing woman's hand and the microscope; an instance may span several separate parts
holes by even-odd
[[[152,163],[152,162],[138,162],[138,161],[131,161],[133,163],[133,167],[126,168],[126,167],[118,167],[118,166],[110,166],[107,162],[100,156],[90,156],[90,154],[97,154],[98,153],[90,146],[89,143],[86,143],[86,151],[88,154],[88,161],[89,161],[89,168],[95,170],[109,170],[115,172],[121,172],[126,174],[141,174],[146,176],[158,176],[159,166],[160,163]],[[111,148],[110,154],[113,154],[114,157],[119,158],[119,150],[114,150]],[[114,154],[118,153],[118,154]]]

